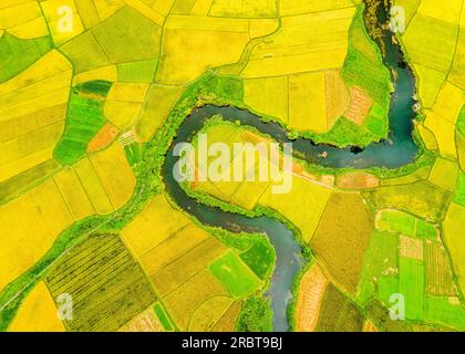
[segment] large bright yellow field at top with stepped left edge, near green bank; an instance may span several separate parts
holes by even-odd
[[[254,49],[244,77],[341,67],[354,12],[350,7],[282,18],[280,31]]]

